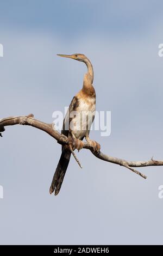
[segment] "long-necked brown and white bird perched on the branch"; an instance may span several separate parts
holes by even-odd
[[[64,176],[70,162],[71,150],[78,151],[83,148],[83,139],[89,143],[92,150],[99,153],[101,146],[89,137],[90,128],[95,118],[96,92],[93,87],[93,66],[90,60],[81,53],[71,55],[57,54],[60,57],[71,58],[83,62],[87,66],[87,73],[84,75],[82,89],[73,97],[62,126],[61,134],[68,137],[69,145],[62,145],[62,152],[58,166],[55,170],[49,192],[55,196],[60,191]]]

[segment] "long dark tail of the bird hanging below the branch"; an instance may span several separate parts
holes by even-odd
[[[55,170],[52,184],[50,187],[50,193],[52,194],[55,190],[54,192],[55,196],[57,196],[57,194],[60,191],[62,182],[64,180],[64,176],[68,167],[68,163],[70,162],[70,157],[71,157],[71,151],[68,150],[67,148],[63,148],[62,154],[61,154],[57,169]]]

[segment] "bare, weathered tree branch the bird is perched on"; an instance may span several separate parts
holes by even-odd
[[[5,131],[4,129],[5,126],[16,125],[16,124],[33,126],[37,129],[40,129],[48,133],[48,135],[56,139],[59,144],[68,145],[68,138],[64,135],[61,135],[57,130],[55,130],[54,124],[43,123],[42,121],[35,119],[33,114],[29,114],[21,117],[8,117],[8,118],[0,119],[0,136],[2,137],[2,132]],[[163,166],[163,161],[153,160],[153,158],[149,161],[134,162],[134,161],[126,161],[123,159],[118,159],[117,157],[108,156],[103,154],[101,151],[99,151],[99,153],[94,153],[89,143],[84,143],[83,148],[89,149],[92,152],[92,154],[95,155],[98,159],[101,159],[103,161],[110,162],[110,163],[119,164],[120,166],[124,166],[130,169],[132,172],[140,175],[144,179],[146,179],[147,176],[135,170],[133,167]],[[79,160],[77,159],[76,154],[73,152],[73,150],[71,151],[74,158],[78,162],[79,166],[82,167]]]

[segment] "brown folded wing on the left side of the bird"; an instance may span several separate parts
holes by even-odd
[[[78,105],[79,105],[78,97],[74,96],[71,103],[70,103],[68,111],[66,113],[64,123],[63,123],[63,126],[62,126],[62,131],[61,131],[61,133],[65,136],[67,136],[67,137],[68,137],[68,133],[69,133],[69,125],[70,125],[70,122],[71,122],[70,113],[72,111],[76,111]]]

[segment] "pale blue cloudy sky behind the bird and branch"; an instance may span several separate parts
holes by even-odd
[[[57,53],[84,53],[95,71],[97,111],[111,111],[111,135],[90,137],[103,153],[163,159],[163,2],[0,0],[0,118],[33,113],[52,123],[82,88],[86,67]],[[162,244],[163,167],[130,170],[90,151],[71,158],[61,191],[49,194],[60,145],[33,127],[0,139],[2,245]]]

